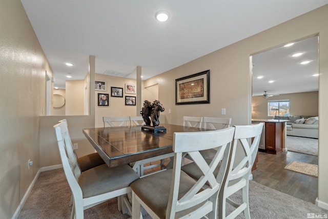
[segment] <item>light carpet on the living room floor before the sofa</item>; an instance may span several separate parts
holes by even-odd
[[[288,135],[285,147],[288,151],[318,156],[318,140],[316,138]]]

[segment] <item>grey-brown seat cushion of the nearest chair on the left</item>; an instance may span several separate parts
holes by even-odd
[[[81,173],[78,184],[86,198],[129,187],[138,178],[129,165],[109,168],[107,164],[103,164]]]

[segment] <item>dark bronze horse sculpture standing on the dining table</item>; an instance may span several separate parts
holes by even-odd
[[[144,107],[141,108],[140,114],[142,115],[142,118],[144,118],[147,126],[150,126],[150,123],[152,122],[153,127],[156,127],[159,125],[159,113],[164,110],[165,108],[159,101],[155,100],[154,103],[151,103],[145,100]],[[151,120],[149,117],[151,117]]]

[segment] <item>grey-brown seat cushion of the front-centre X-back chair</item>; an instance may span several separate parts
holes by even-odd
[[[169,169],[148,175],[134,181],[130,185],[134,193],[140,197],[140,199],[150,207],[159,218],[166,218],[166,209],[171,189],[172,171],[172,169]],[[181,171],[178,199],[181,198],[194,184],[195,180],[187,173]],[[176,217],[186,215],[203,204],[204,203],[199,204],[194,208],[177,212]]]

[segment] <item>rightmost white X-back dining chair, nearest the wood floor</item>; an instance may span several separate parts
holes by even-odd
[[[235,135],[232,152],[230,154],[231,165],[228,166],[227,176],[224,178],[218,196],[219,218],[235,218],[241,212],[244,212],[245,218],[251,218],[248,193],[249,179],[258,151],[263,123],[234,127]],[[238,152],[243,151],[243,155],[240,153],[238,153],[238,155],[236,154],[237,145],[241,145],[243,150],[238,150]],[[238,157],[238,160],[236,157]],[[229,197],[240,189],[242,190],[242,203],[236,203]],[[226,203],[229,203],[235,208],[234,211],[227,216]]]

